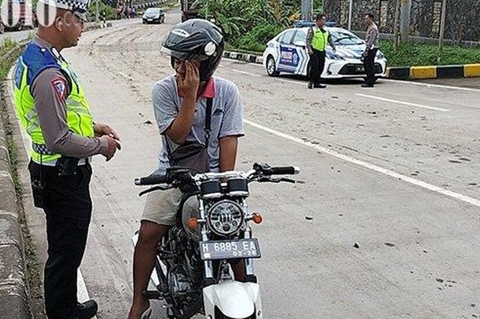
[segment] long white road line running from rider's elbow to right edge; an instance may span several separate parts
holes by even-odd
[[[393,172],[389,169],[385,169],[383,167],[379,167],[379,166],[376,166],[376,165],[373,165],[373,164],[370,164],[370,163],[367,163],[367,162],[364,162],[364,161],[360,161],[357,158],[353,158],[353,157],[348,156],[348,155],[340,154],[340,153],[335,152],[334,150],[330,150],[326,147],[322,147],[320,145],[316,145],[316,144],[313,144],[313,143],[303,141],[302,139],[298,139],[297,137],[292,137],[291,135],[279,132],[277,130],[272,130],[271,128],[267,128],[267,127],[262,126],[260,124],[254,123],[252,121],[248,121],[246,119],[244,120],[244,123],[246,123],[250,126],[253,126],[254,128],[259,128],[260,130],[263,130],[265,132],[269,132],[271,134],[274,134],[278,137],[283,137],[284,139],[288,139],[289,141],[294,141],[294,142],[300,143],[304,146],[311,147],[311,148],[313,148],[317,151],[320,151],[322,153],[325,153],[325,154],[328,154],[328,155],[331,155],[331,156],[335,156],[335,157],[340,158],[341,160],[347,161],[349,163],[353,163],[353,164],[359,165],[361,167],[365,167],[367,169],[372,169],[372,171],[374,171],[374,172],[379,172],[381,174],[385,174],[387,176],[396,178],[398,180],[403,180],[404,182],[408,182],[412,185],[416,185],[418,187],[428,189],[429,191],[433,191],[435,193],[439,193],[439,194],[442,194],[444,196],[448,196],[448,197],[454,198],[456,200],[460,200],[461,202],[466,202],[468,204],[472,204],[474,206],[480,207],[480,200],[478,200],[477,198],[471,198],[469,196],[465,196],[465,195],[462,195],[460,193],[455,193],[454,191],[448,191],[447,189],[444,189],[442,187],[437,187],[437,186],[431,185],[427,182],[422,182],[421,180],[416,180],[415,178],[411,178],[409,176],[405,176],[405,175]]]

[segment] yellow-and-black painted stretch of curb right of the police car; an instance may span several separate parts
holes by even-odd
[[[420,80],[437,78],[480,77],[480,64],[433,65],[430,67],[389,67],[387,78],[394,80]]]

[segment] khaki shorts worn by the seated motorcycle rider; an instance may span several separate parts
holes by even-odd
[[[148,193],[141,220],[165,226],[175,225],[181,199],[182,191],[180,189]]]

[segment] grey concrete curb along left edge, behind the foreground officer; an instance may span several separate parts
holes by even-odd
[[[22,47],[19,45],[4,58],[12,58]],[[0,98],[3,99],[2,92]],[[3,121],[0,121],[0,185],[0,318],[30,319],[32,314],[19,207]]]

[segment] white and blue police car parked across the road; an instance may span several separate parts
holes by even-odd
[[[322,78],[364,78],[362,54],[365,41],[341,27],[326,27],[330,32],[337,51],[333,53],[330,45],[326,48],[325,69]],[[267,43],[263,52],[263,66],[270,76],[280,73],[307,75],[310,73],[307,51],[307,33],[309,27],[293,27],[280,32]],[[386,75],[387,59],[379,51],[375,58],[375,75]]]

